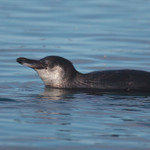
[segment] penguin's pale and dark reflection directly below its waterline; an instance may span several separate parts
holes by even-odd
[[[85,94],[93,96],[109,95],[114,100],[136,100],[141,97],[147,98],[149,92],[101,92],[99,89],[58,89],[45,87],[44,92],[40,94],[43,98],[49,100],[67,100],[76,98],[76,94]]]

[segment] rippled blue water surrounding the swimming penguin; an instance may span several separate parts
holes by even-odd
[[[150,94],[45,89],[17,57],[150,71],[149,0],[0,1],[0,149],[149,150]]]

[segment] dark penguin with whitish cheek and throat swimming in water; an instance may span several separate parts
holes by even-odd
[[[98,89],[100,91],[150,91],[150,72],[141,70],[105,70],[80,73],[71,61],[59,56],[40,60],[24,57],[17,62],[34,69],[46,87]]]

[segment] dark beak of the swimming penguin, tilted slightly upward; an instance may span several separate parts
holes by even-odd
[[[24,57],[19,57],[16,60],[19,64],[22,64],[24,66],[28,66],[32,69],[45,69],[46,65],[44,62],[41,62],[40,60],[32,60],[32,59],[27,59]]]

